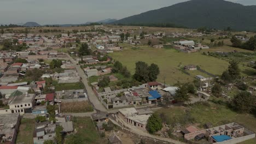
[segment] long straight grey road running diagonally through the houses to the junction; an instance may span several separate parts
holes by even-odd
[[[74,61],[74,59],[71,56],[69,56],[68,54],[67,56],[69,57],[70,61],[75,65],[75,69],[77,69],[78,75],[82,77],[82,82],[84,83],[84,86],[88,94],[88,98],[91,101],[92,105],[94,106],[94,109],[98,111],[107,111],[106,108],[98,100],[97,96],[92,91],[91,87],[88,85],[87,76],[85,75],[84,70],[80,68],[80,65],[77,65],[77,62]]]

